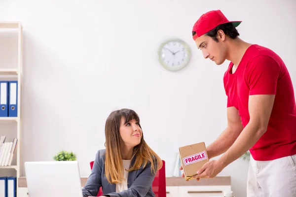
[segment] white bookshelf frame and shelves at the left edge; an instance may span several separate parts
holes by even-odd
[[[17,67],[14,69],[5,68],[1,64],[0,59],[0,80],[6,80],[6,77],[13,77],[18,81],[17,87],[17,117],[0,117],[0,127],[2,123],[16,123],[16,136],[17,145],[16,150],[13,156],[13,160],[16,162],[12,163],[13,165],[9,166],[0,166],[0,170],[6,169],[14,169],[16,170],[16,179],[21,176],[21,144],[22,144],[22,118],[21,118],[21,87],[22,87],[22,70],[23,70],[23,27],[20,22],[1,22],[0,21],[0,31],[5,31],[9,33],[9,31],[17,32],[17,66],[12,65],[13,67]],[[1,43],[0,43],[1,44]],[[5,131],[10,132],[10,131]],[[7,133],[8,134],[8,133]],[[6,135],[6,133],[1,132],[0,135]],[[17,193],[18,193],[18,184],[17,184]]]

